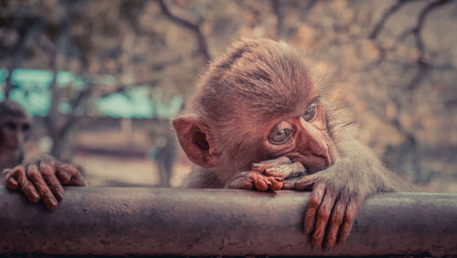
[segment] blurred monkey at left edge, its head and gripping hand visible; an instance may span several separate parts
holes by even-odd
[[[31,118],[16,102],[0,103],[0,168],[5,185],[20,189],[32,202],[43,199],[49,210],[63,199],[62,185],[80,186],[85,182],[72,164],[57,161],[52,156],[40,156],[23,165],[24,144],[30,135]]]

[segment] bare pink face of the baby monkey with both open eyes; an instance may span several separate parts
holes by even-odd
[[[261,152],[266,158],[287,156],[301,162],[308,173],[323,170],[334,161],[331,152],[334,144],[319,102],[309,103],[297,116],[274,121],[263,135]]]

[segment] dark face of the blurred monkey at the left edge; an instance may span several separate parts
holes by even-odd
[[[0,144],[6,149],[21,148],[30,134],[30,123],[26,118],[6,118],[0,123]]]

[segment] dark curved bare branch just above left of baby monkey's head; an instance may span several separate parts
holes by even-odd
[[[207,38],[203,34],[200,23],[201,18],[192,17],[190,14],[184,12],[184,10],[170,10],[168,5],[165,4],[165,0],[158,0],[162,12],[167,16],[172,22],[178,24],[182,27],[190,29],[197,36],[198,41],[198,52],[208,61],[211,60],[211,56],[207,50]]]

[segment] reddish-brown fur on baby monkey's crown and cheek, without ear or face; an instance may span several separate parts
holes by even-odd
[[[274,117],[303,109],[303,99],[314,97],[308,74],[294,49],[268,39],[241,41],[210,65],[188,106],[210,126],[221,156],[217,169],[224,171],[218,173],[222,181],[259,161],[252,156],[259,152],[259,128]],[[244,113],[256,115],[240,115]]]

